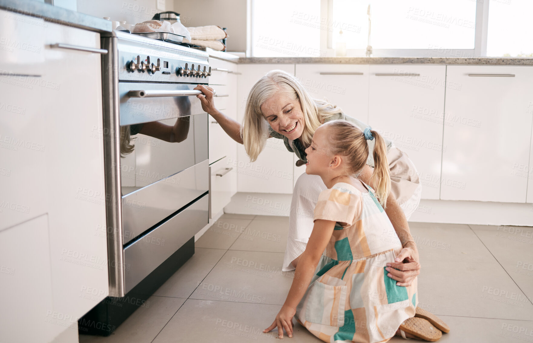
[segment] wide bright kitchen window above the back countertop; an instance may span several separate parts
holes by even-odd
[[[530,0],[251,0],[250,12],[254,57],[533,55]]]

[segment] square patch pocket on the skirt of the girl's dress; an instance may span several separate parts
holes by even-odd
[[[305,320],[330,327],[342,327],[346,292],[346,286],[331,286],[314,281],[305,307]]]

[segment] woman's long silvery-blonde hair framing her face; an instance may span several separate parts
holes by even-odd
[[[311,98],[300,80],[292,74],[282,70],[269,71],[250,90],[241,125],[240,135],[251,162],[257,160],[268,139],[269,123],[261,111],[261,105],[278,91],[285,92],[290,98],[300,102],[305,124],[301,138],[305,147],[311,145],[314,131],[326,118],[342,112],[341,108],[327,100]]]

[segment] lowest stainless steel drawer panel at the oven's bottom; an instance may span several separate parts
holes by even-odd
[[[209,196],[205,194],[124,249],[126,292],[207,225],[208,202]]]

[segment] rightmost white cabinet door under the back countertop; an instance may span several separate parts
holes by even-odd
[[[448,66],[441,199],[526,202],[531,80],[533,66]]]

